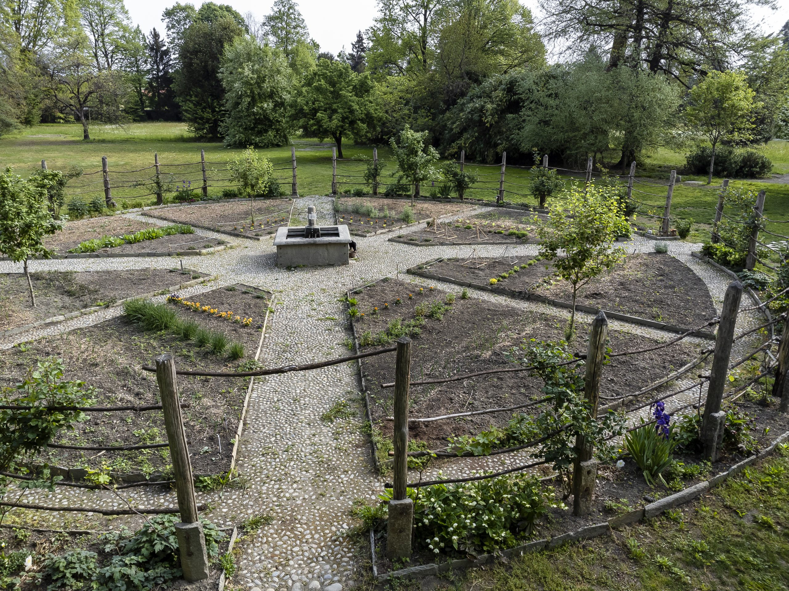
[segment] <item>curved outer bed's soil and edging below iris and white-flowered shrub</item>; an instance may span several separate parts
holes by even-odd
[[[568,542],[581,541],[602,535],[611,535],[617,530],[642,519],[654,519],[664,513],[670,519],[682,522],[682,512],[677,507],[696,499],[712,487],[720,485],[745,470],[747,466],[765,459],[776,448],[789,439],[789,416],[787,414],[765,414],[761,407],[752,403],[739,403],[741,410],[758,413],[760,417],[753,425],[753,432],[759,444],[759,452],[744,458],[739,453],[731,453],[715,464],[702,464],[697,454],[675,454],[675,459],[685,466],[701,465],[700,474],[671,481],[672,488],[664,485],[651,488],[646,485],[638,467],[631,459],[625,466],[600,466],[597,473],[593,511],[590,515],[577,517],[569,509],[555,508],[540,522],[530,536],[523,536],[521,543],[514,548],[497,551],[495,554],[483,552],[457,553],[442,555],[437,559],[433,552],[419,550],[409,560],[409,566],[394,565],[386,558],[385,530],[372,531],[370,535],[372,550],[373,577],[379,581],[388,578],[421,578],[442,572],[491,565],[497,559],[521,556],[544,548],[556,548]],[[769,433],[764,433],[769,426]],[[776,433],[780,433],[777,435]],[[555,489],[559,482],[553,481]],[[551,481],[546,482],[551,485]],[[555,500],[561,500],[556,492]],[[753,519],[755,515],[751,517]],[[747,519],[747,518],[746,518]]]

